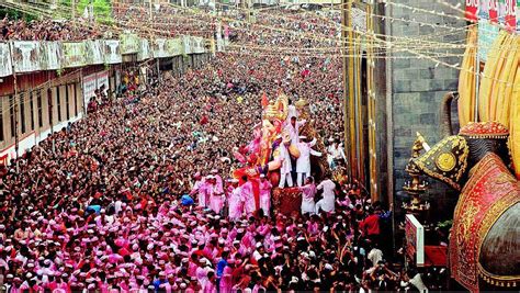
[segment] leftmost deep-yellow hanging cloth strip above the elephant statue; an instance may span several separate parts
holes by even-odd
[[[461,127],[475,121],[475,72],[476,64],[477,27],[473,26],[467,32],[467,48],[462,60],[462,70],[459,77],[459,122]]]

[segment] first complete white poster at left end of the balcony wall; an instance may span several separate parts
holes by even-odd
[[[41,43],[33,41],[12,42],[12,59],[15,72],[30,72],[41,70]]]

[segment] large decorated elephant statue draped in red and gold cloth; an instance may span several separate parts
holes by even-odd
[[[512,174],[508,129],[496,122],[470,123],[411,159],[412,167],[460,192],[450,234],[451,275],[472,292],[520,286],[520,184]]]

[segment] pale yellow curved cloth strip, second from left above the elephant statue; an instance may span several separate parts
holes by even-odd
[[[481,79],[481,88],[478,92],[478,116],[479,121],[483,122],[489,121],[490,117],[489,105],[493,90],[493,80],[495,78],[494,76],[497,68],[497,64],[501,56],[501,48],[504,48],[502,44],[505,43],[507,37],[508,33],[501,31],[495,42],[493,42],[493,45],[487,54],[487,61],[486,66],[484,67],[483,77]]]

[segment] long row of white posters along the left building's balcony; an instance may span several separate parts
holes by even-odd
[[[151,44],[151,45],[150,45]],[[100,64],[121,64],[123,55],[137,54],[137,60],[165,58],[181,54],[210,52],[207,40],[194,36],[148,41],[135,34],[121,40],[82,42],[11,41],[0,42],[0,77],[39,70],[59,70]],[[219,48],[223,48],[221,42]]]

